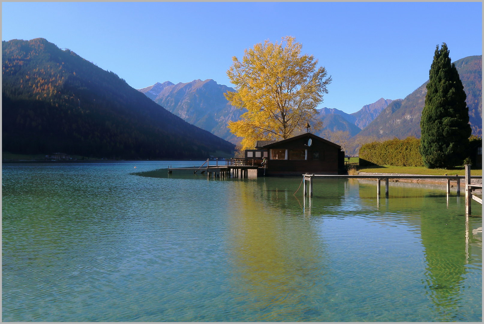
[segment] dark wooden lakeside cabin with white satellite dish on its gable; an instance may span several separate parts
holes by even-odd
[[[344,168],[345,153],[329,140],[304,133],[279,141],[258,140],[254,149],[245,150],[247,161],[263,157],[267,158],[265,175],[338,174]]]

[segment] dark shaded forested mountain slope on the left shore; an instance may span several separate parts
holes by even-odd
[[[16,154],[205,159],[234,149],[43,38],[2,42],[2,137]]]

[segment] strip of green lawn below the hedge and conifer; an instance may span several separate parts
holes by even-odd
[[[408,173],[408,174],[428,174],[428,175],[464,175],[464,168],[455,169],[427,169],[425,167],[394,167],[390,165],[357,168],[360,172],[374,173]],[[470,169],[471,175],[483,175],[482,169]]]

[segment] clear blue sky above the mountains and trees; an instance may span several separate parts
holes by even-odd
[[[133,88],[214,79],[291,35],[333,77],[320,106],[352,113],[428,79],[436,45],[482,54],[481,2],[2,2],[2,40],[43,37]]]

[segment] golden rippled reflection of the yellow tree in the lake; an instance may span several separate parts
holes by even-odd
[[[292,195],[299,183],[292,182],[241,183],[237,200],[229,202],[231,262],[243,320],[304,321],[321,316],[318,307],[326,297],[316,286],[327,280],[327,256],[315,227],[302,216]]]

